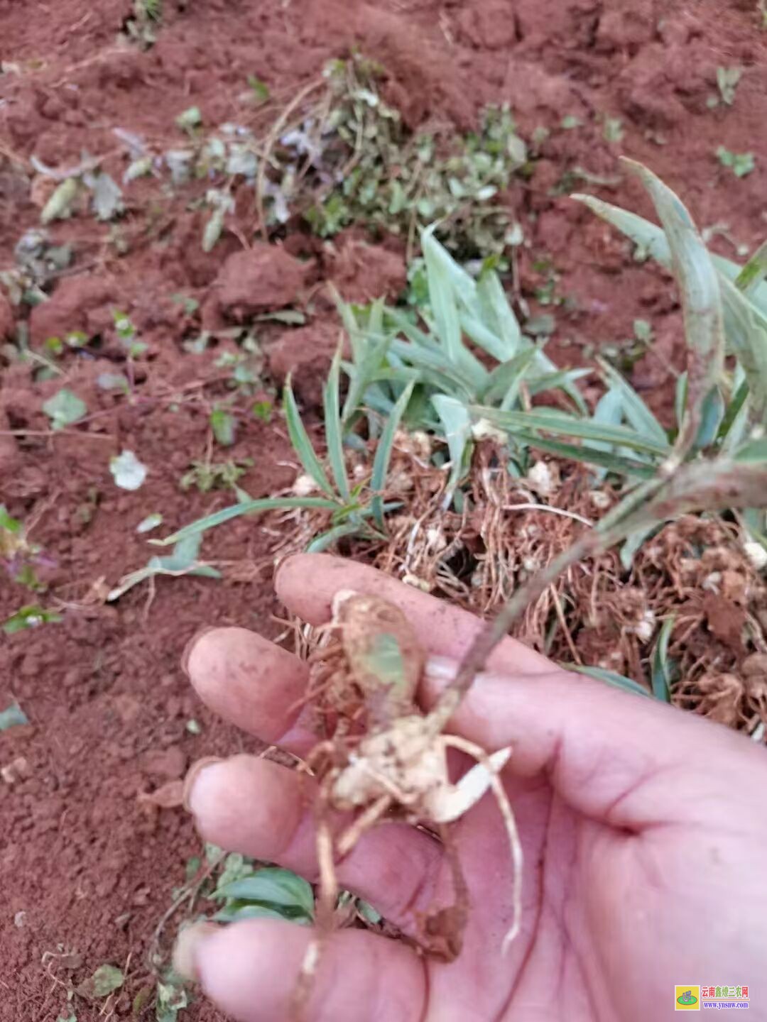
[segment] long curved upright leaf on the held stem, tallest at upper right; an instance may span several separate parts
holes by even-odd
[[[704,405],[724,370],[724,324],[719,279],[681,199],[651,171],[624,160],[641,180],[661,218],[679,284],[687,342],[687,406],[675,445],[681,461],[695,444]]]

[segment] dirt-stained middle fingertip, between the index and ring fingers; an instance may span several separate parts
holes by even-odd
[[[184,669],[197,695],[211,709],[299,755],[315,739],[297,728],[309,668],[246,629],[209,629],[192,640]]]

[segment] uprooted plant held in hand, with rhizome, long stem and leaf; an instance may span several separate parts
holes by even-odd
[[[767,440],[763,436],[764,407],[760,402],[764,378],[748,359],[746,374],[754,384],[749,396],[743,396],[743,407],[750,407],[746,413],[750,437],[733,452],[697,457],[698,452],[711,450],[724,418],[721,387],[725,336],[719,280],[678,198],[644,168],[633,165],[633,169],[655,201],[682,291],[688,340],[687,393],[676,442],[651,477],[628,493],[594,528],[586,530],[514,593],[495,620],[479,634],[454,682],[426,715],[417,712],[414,702],[424,653],[404,614],[376,598],[339,594],[326,635],[340,634],[340,641],[315,651],[314,658],[319,658],[321,668],[310,692],[325,729],[330,730],[309,757],[319,782],[320,895],[318,932],[304,962],[299,1007],[311,990],[322,941],[331,925],[337,895],[334,864],[386,814],[400,814],[410,822],[438,828],[446,844],[453,865],[456,902],[420,920],[418,937],[426,953],[450,959],[460,949],[468,905],[460,864],[451,848],[446,825],[465,812],[488,788],[492,789],[506,824],[514,865],[515,912],[505,946],[518,931],[521,911],[522,854],[511,807],[499,779],[511,750],[489,753],[444,735],[445,724],[494,646],[566,568],[607,550],[649,523],[684,512],[767,505]],[[755,276],[759,278],[759,270],[753,267],[745,274],[752,284]],[[459,748],[478,760],[478,765],[455,785],[447,776],[445,752],[449,747]],[[329,822],[333,809],[357,811],[337,837]]]

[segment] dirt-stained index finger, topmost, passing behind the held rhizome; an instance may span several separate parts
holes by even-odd
[[[460,659],[482,629],[473,614],[439,600],[366,564],[330,554],[297,554],[281,566],[277,594],[287,607],[312,624],[330,619],[332,598],[340,590],[369,593],[396,603],[415,626],[431,653]],[[541,675],[551,661],[514,639],[504,639],[490,655],[488,667],[513,675]]]

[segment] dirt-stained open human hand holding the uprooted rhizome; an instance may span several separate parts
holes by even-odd
[[[327,555],[282,566],[277,591],[312,624],[339,590],[399,604],[430,654],[460,660],[481,622]],[[302,755],[291,715],[307,666],[242,629],[202,634],[186,655],[208,705]],[[421,705],[440,683],[428,670]],[[449,965],[360,929],[333,933],[312,1022],[602,1022],[666,1018],[674,985],[755,983],[767,946],[767,757],[718,725],[556,667],[511,639],[494,650],[450,722],[488,751],[512,746],[503,781],[525,853],[522,932],[505,955],[512,875],[488,795],[453,825],[469,891],[463,949]],[[237,755],[192,771],[187,804],[208,841],[316,880],[306,777]],[[342,886],[406,932],[449,903],[442,846],[405,824],[365,834]],[[186,954],[205,991],[242,1022],[284,1022],[311,931],[251,920],[197,931]],[[734,978],[733,978],[734,977]],[[767,1000],[763,1002],[767,1006]],[[767,1018],[767,1007],[757,1010]]]

